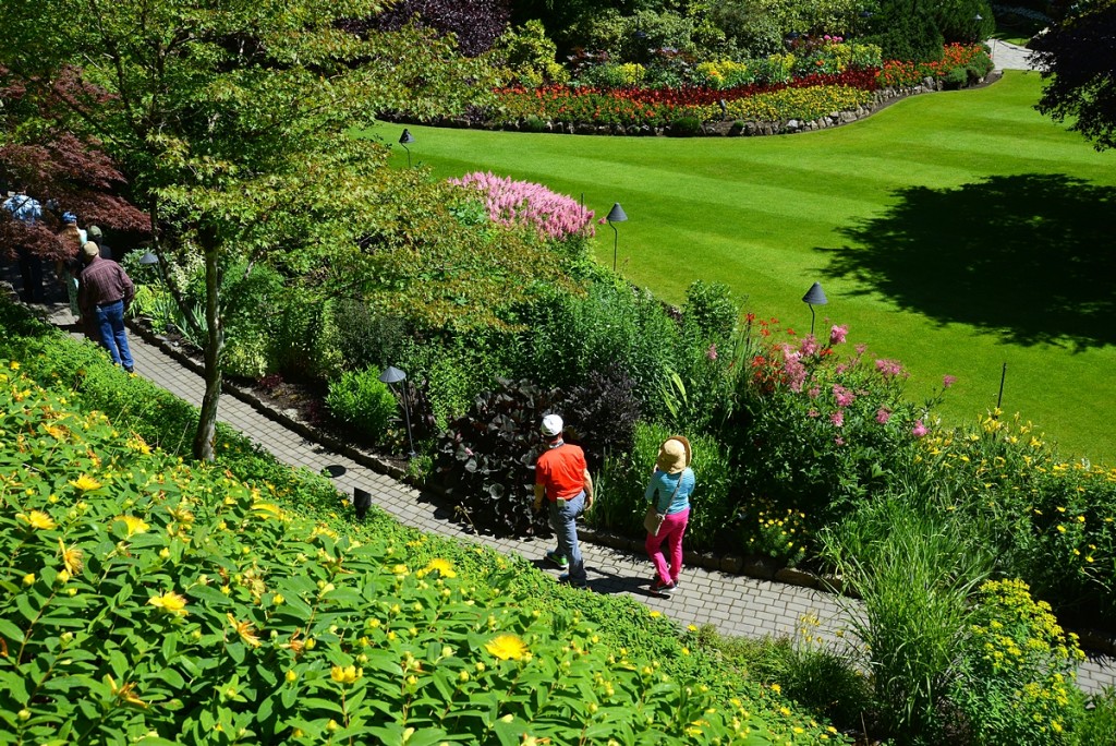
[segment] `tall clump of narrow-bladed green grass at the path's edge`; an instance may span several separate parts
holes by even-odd
[[[943,738],[952,718],[940,705],[990,556],[956,523],[894,497],[862,504],[821,541],[846,587],[863,599],[860,609],[841,603],[864,643],[882,727],[902,744]]]

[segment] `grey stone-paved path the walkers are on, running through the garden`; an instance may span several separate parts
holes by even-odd
[[[62,325],[68,323],[68,309],[56,308],[54,321]],[[133,334],[131,339],[140,375],[194,405],[200,404],[203,382],[199,375],[136,335]],[[334,482],[344,492],[352,495],[356,487],[372,492],[376,506],[407,526],[478,542],[507,554],[519,554],[536,560],[542,567],[538,560],[548,545],[538,541],[474,535],[453,522],[450,511],[435,498],[307,440],[232,395],[222,396],[220,419],[286,463],[336,475]],[[581,548],[593,591],[627,593],[650,609],[663,612],[680,625],[714,624],[722,634],[733,637],[795,635],[802,616],[810,614],[819,622],[815,633],[820,633],[836,644],[844,644],[838,638],[847,629],[846,616],[835,597],[828,593],[701,567],[686,567],[674,596],[660,599],[647,591],[652,568],[645,556],[587,543],[583,543]],[[543,571],[547,572],[546,568]],[[556,575],[557,572],[551,574]],[[1090,656],[1078,671],[1078,685],[1086,691],[1116,686],[1116,659]]]

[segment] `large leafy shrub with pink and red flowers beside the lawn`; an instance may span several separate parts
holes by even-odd
[[[933,402],[904,399],[903,365],[864,345],[853,348],[847,326],[819,339],[782,329],[778,319],[750,321],[749,370],[739,376],[737,410],[723,433],[733,444],[743,504],[802,510],[817,528],[889,489],[933,422]],[[949,376],[943,391],[952,383]]]

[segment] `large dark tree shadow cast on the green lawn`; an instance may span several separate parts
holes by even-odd
[[[1019,345],[1116,344],[1116,189],[1067,175],[914,187],[882,217],[840,229],[831,277],[941,324]]]

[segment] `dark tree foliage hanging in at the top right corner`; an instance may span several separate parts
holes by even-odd
[[[1093,141],[1116,147],[1116,2],[1083,2],[1031,42],[1047,82],[1039,112]]]

